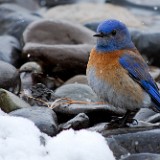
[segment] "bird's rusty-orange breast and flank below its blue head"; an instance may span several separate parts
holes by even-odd
[[[89,83],[91,82],[90,86],[100,97],[107,96],[107,91],[104,90],[106,86],[111,86],[113,95],[126,97],[126,99],[129,99],[128,95],[131,95],[131,101],[137,101],[137,104],[142,101],[142,88],[130,78],[128,71],[119,63],[119,58],[124,53],[139,54],[138,51],[136,52],[119,50],[111,53],[97,53],[95,49],[92,49],[87,65],[87,77]],[[101,89],[99,89],[100,86],[102,86]]]

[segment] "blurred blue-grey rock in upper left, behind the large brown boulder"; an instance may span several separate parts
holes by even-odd
[[[21,41],[27,25],[38,19],[40,18],[31,15],[28,10],[16,4],[2,4],[0,5],[0,34],[9,34]]]

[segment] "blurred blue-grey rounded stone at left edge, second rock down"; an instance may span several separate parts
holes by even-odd
[[[16,67],[20,64],[21,47],[18,40],[12,36],[0,36],[0,60]]]

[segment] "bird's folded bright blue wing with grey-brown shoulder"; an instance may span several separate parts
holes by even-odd
[[[139,83],[142,88],[150,95],[156,108],[160,111],[159,89],[149,74],[147,64],[138,56],[124,54],[120,57],[119,63],[126,69],[129,75]]]

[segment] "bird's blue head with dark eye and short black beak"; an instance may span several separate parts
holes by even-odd
[[[111,52],[135,48],[126,25],[118,20],[105,20],[97,28],[96,50]]]

